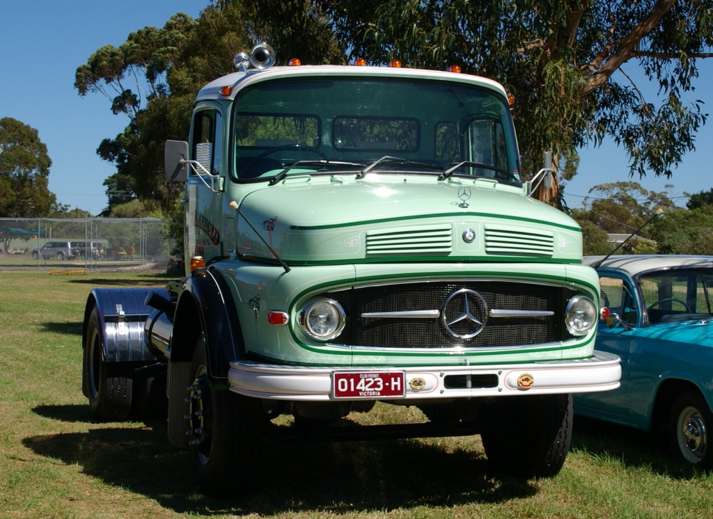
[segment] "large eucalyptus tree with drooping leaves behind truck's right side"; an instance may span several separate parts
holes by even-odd
[[[525,174],[545,150],[575,157],[610,137],[625,147],[632,175],[670,177],[707,117],[702,100],[682,98],[694,90],[699,60],[713,57],[713,0],[315,2],[352,58],[456,64],[503,83],[517,99]],[[660,96],[645,98],[633,68]],[[540,193],[554,203],[558,196],[557,183]]]

